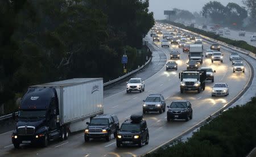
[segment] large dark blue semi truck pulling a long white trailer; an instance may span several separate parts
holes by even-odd
[[[19,105],[12,134],[15,148],[22,143],[46,147],[85,129],[86,120],[103,114],[103,79],[75,78],[28,87]]]

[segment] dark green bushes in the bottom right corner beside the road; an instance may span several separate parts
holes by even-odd
[[[160,148],[145,155],[157,156],[246,156],[256,146],[256,97],[223,112],[196,131],[186,142]]]

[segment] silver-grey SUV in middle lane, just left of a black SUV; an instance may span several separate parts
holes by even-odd
[[[143,114],[146,112],[163,113],[166,111],[166,100],[161,94],[151,94],[143,102]]]

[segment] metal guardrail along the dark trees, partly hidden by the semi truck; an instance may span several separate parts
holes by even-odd
[[[124,78],[126,78],[126,77],[129,77],[131,74],[134,74],[134,73],[136,73],[137,71],[141,70],[143,67],[147,66],[148,63],[149,63],[151,60],[152,60],[152,57],[150,57],[150,58],[147,60],[147,62],[144,63],[144,65],[142,65],[142,66],[139,67],[138,69],[135,69],[135,70],[133,70],[133,71],[131,71],[130,73],[127,73],[127,74],[125,74],[125,75],[122,75],[122,77],[119,77],[119,78],[117,78],[117,79],[110,80],[109,82],[106,82],[106,83],[103,83],[103,87],[104,87],[104,86],[108,86],[108,85],[113,84],[113,83],[116,83],[116,82],[118,82],[119,80],[122,80],[122,79],[124,79]],[[15,112],[15,116],[18,116],[18,112]],[[11,114],[7,114],[7,115],[5,115],[5,116],[1,116],[1,117],[0,117],[0,121],[9,119],[9,118],[11,118],[11,117],[13,117],[13,114],[12,114],[12,113],[11,113]]]

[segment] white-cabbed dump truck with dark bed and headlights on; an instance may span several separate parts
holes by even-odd
[[[180,93],[184,91],[197,91],[205,90],[205,80],[207,79],[207,73],[205,70],[184,70],[179,73],[180,78]]]

